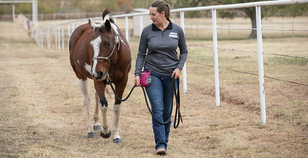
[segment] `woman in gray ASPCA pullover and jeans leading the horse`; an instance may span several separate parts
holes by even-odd
[[[187,46],[182,28],[170,21],[168,4],[156,1],[150,7],[152,24],[145,27],[140,36],[136,60],[134,84],[140,85],[142,69],[151,70],[152,82],[146,87],[152,113],[160,122],[166,122],[171,111],[172,76],[180,76],[187,59]],[[176,49],[180,49],[178,58]],[[147,51],[148,50],[148,51]],[[171,120],[160,124],[152,117],[156,154],[166,154]]]

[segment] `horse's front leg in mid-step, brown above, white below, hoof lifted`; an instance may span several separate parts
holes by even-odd
[[[96,102],[102,112],[102,127],[100,131],[100,136],[103,138],[109,138],[111,136],[111,131],[108,127],[107,121],[107,109],[108,109],[108,102],[105,97],[105,87],[102,81],[94,81],[95,91],[98,97],[95,97]]]

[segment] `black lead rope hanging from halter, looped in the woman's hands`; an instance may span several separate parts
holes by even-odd
[[[180,89],[179,89],[179,87],[180,87],[180,79],[179,78],[177,78],[176,80],[177,80],[177,94],[176,94],[176,86],[175,86],[175,74],[173,75],[173,77],[172,77],[172,87],[171,87],[171,89],[172,89],[172,98],[173,98],[173,91],[174,91],[174,95],[175,95],[175,98],[176,98],[176,112],[175,112],[175,118],[174,118],[174,128],[177,128],[178,126],[179,126],[179,124],[180,124],[180,119],[181,119],[181,122],[183,123],[183,120],[182,120],[182,115],[181,115],[181,113],[180,113]],[[112,81],[111,80],[109,80],[108,82],[107,82],[107,85],[110,85],[111,86],[111,89],[112,89],[112,91],[113,91],[113,93],[115,94],[115,97],[119,100],[119,101],[126,101],[127,99],[128,99],[128,97],[131,95],[131,93],[132,93],[132,91],[134,90],[134,88],[137,86],[137,85],[134,85],[133,86],[133,88],[132,88],[132,90],[129,92],[129,94],[128,94],[128,96],[124,99],[124,100],[122,100],[122,99],[120,99],[120,97],[116,94],[116,92],[115,92],[115,89],[113,88],[113,86],[112,86]],[[149,112],[151,113],[151,115],[152,115],[152,117],[154,118],[154,120],[156,120],[158,123],[160,123],[160,124],[167,124],[168,122],[169,122],[169,120],[171,119],[171,115],[172,115],[172,109],[173,109],[173,101],[171,102],[171,112],[170,112],[170,116],[169,116],[169,118],[168,118],[168,120],[166,121],[166,122],[160,122],[159,120],[157,120],[156,119],[156,117],[153,115],[153,113],[152,113],[152,111],[151,111],[151,109],[150,109],[150,107],[149,107],[149,104],[148,104],[148,100],[147,100],[147,96],[146,96],[146,94],[145,94],[145,90],[144,90],[144,87],[141,85],[141,88],[142,88],[142,90],[143,90],[143,94],[144,94],[144,99],[145,99],[145,102],[147,103],[147,106],[148,106],[148,109],[149,109]],[[176,116],[177,116],[177,112],[179,112],[179,115],[178,115],[178,122],[177,122],[177,125],[176,125]]]

